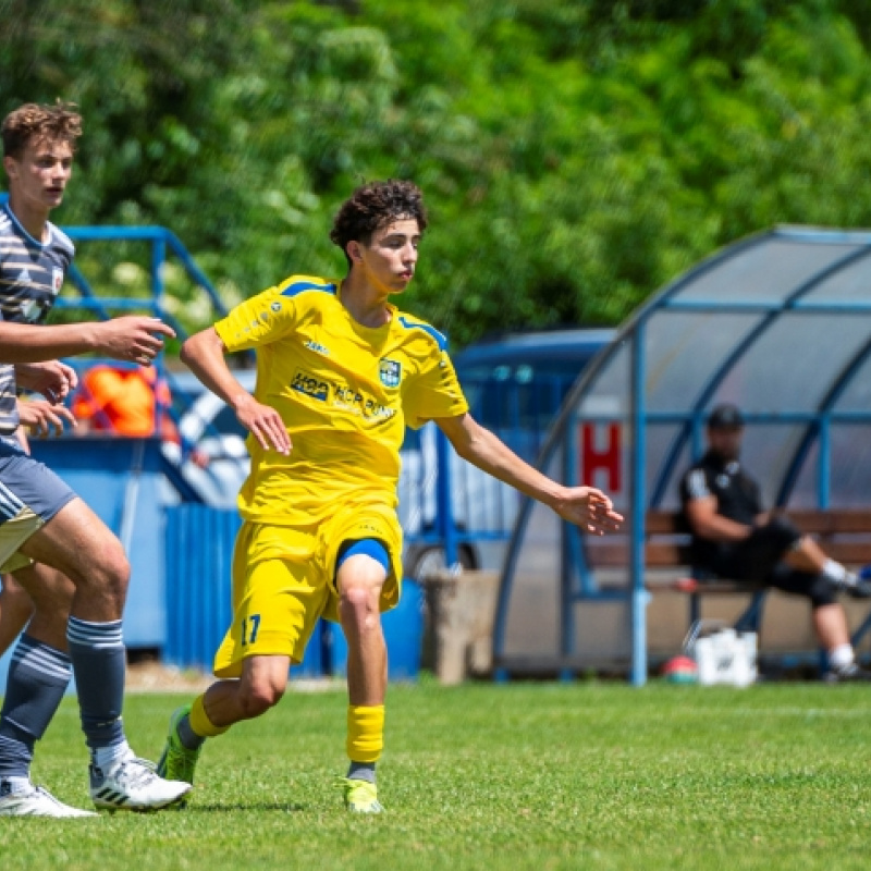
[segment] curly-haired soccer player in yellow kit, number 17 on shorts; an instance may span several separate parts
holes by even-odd
[[[346,807],[378,813],[387,650],[380,612],[400,599],[396,518],[406,425],[434,420],[457,453],[593,533],[622,517],[600,490],[564,487],[468,414],[444,336],[401,312],[427,225],[410,182],[359,187],[331,238],[343,281],[292,275],[191,336],[182,358],[250,432],[252,473],[233,557],[233,624],[214,659],[219,680],[175,711],[158,772],[193,783],[200,748],[281,699],[320,616],[347,639]],[[254,395],[224,355],[257,351]]]

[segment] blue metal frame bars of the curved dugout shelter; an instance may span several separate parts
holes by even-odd
[[[745,254],[748,249],[760,245],[771,238],[785,238],[795,240],[805,243],[826,243],[842,242],[849,244],[859,244],[866,247],[860,250],[850,252],[837,261],[829,265],[825,269],[817,272],[811,279],[802,282],[802,284],[789,294],[784,300],[778,303],[765,302],[746,302],[738,300],[697,300],[684,302],[675,299],[675,295],[684,290],[688,284],[695,283],[707,271],[721,265],[724,260],[735,258]],[[830,233],[819,231],[805,231],[805,230],[775,230],[758,236],[745,240],[737,245],[734,245],[717,255],[709,258],[704,262],[689,270],[685,275],[677,279],[675,282],[666,286],[654,299],[647,305],[642,306],[639,311],[627,322],[627,324],[618,331],[617,336],[613,343],[613,349],[604,353],[600,358],[587,367],[578,383],[569,392],[563,413],[560,415],[549,439],[545,441],[544,447],[540,454],[538,464],[544,465],[550,461],[560,444],[566,445],[566,451],[571,452],[572,447],[565,436],[566,427],[575,417],[575,407],[584,396],[588,387],[604,369],[604,367],[612,359],[612,356],[617,353],[616,347],[625,341],[630,341],[630,391],[631,404],[629,408],[629,429],[633,433],[631,445],[631,490],[629,494],[629,526],[630,526],[630,566],[629,566],[629,589],[628,596],[630,597],[631,606],[631,624],[633,624],[633,659],[630,679],[636,686],[643,684],[647,679],[647,638],[646,638],[646,604],[648,601],[648,593],[643,585],[643,541],[645,528],[643,518],[646,508],[648,506],[648,499],[645,493],[646,481],[646,430],[652,424],[662,422],[678,422],[682,425],[680,431],[673,445],[666,454],[666,459],[663,463],[658,478],[652,487],[652,492],[649,499],[650,507],[655,507],[664,498],[665,487],[671,480],[674,471],[674,465],[679,457],[684,445],[687,440],[690,441],[694,455],[698,455],[702,443],[703,430],[703,413],[716,392],[716,389],[722,384],[723,379],[734,365],[747,353],[762,333],[776,320],[776,318],[784,312],[792,314],[808,314],[808,315],[868,315],[871,314],[871,302],[856,300],[856,302],[833,302],[820,303],[817,300],[808,302],[803,297],[811,291],[818,287],[821,282],[831,278],[831,275],[838,271],[855,265],[858,260],[871,254],[871,234],[868,233]],[[647,382],[647,360],[645,353],[645,330],[649,318],[658,311],[686,311],[686,312],[748,312],[758,314],[762,318],[759,323],[755,324],[752,329],[739,341],[738,345],[728,355],[726,360],[717,368],[713,376],[709,379],[708,383],[702,388],[698,398],[692,404],[692,407],[680,414],[658,414],[649,413],[646,408],[646,396],[643,385]],[[788,466],[787,475],[777,493],[776,504],[784,504],[795,486],[800,469],[805,459],[810,451],[814,441],[819,441],[819,468],[818,468],[818,495],[821,506],[827,506],[827,479],[829,470],[831,467],[831,439],[830,429],[833,422],[871,422],[871,412],[869,413],[835,413],[833,412],[834,405],[837,400],[843,395],[844,390],[850,382],[851,378],[860,370],[860,367],[871,356],[871,340],[866,343],[862,348],[854,355],[852,359],[843,367],[842,371],[835,377],[832,387],[826,393],[823,401],[820,403],[818,409],[811,413],[787,413],[777,415],[748,415],[748,422],[803,422],[807,424],[806,432],[801,442],[796,450],[793,459]],[[626,418],[623,416],[601,415],[590,416],[586,418],[590,422],[618,422],[626,424]],[[574,480],[574,478],[572,479]],[[514,536],[512,538],[508,554],[503,571],[502,585],[500,589],[499,600],[496,604],[496,617],[493,631],[493,653],[496,666],[496,677],[499,679],[506,679],[508,670],[504,655],[507,616],[510,610],[510,602],[513,589],[514,577],[517,571],[517,562],[519,559],[519,549],[523,533],[528,526],[529,517],[531,514],[532,503],[527,500],[518,515],[517,524],[515,525]],[[577,549],[571,553],[571,557],[575,559]],[[596,593],[588,594],[585,586],[578,592],[578,599],[592,599],[597,598]],[[753,601],[751,608],[745,612],[743,619],[758,617],[760,601]],[[562,615],[562,636],[563,638],[573,638],[573,626],[568,625],[574,619],[574,609],[569,605],[568,615]],[[871,616],[866,621],[867,626],[860,627],[855,637],[861,636],[867,628],[871,628]],[[557,657],[557,670],[561,672],[567,667],[567,658],[571,650],[566,650],[564,645],[561,645],[560,653]]]

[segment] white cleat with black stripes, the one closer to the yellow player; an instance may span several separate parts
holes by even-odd
[[[106,772],[90,766],[90,799],[103,810],[160,810],[179,803],[192,789],[189,783],[164,781],[151,762],[131,757]]]

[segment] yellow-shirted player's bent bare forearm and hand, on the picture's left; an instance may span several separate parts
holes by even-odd
[[[182,345],[182,361],[235,413],[240,424],[254,434],[260,446],[291,453],[291,437],[281,415],[263,405],[240,384],[224,358],[226,348],[213,327],[195,333]]]

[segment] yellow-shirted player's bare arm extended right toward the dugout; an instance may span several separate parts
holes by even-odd
[[[464,459],[553,508],[563,519],[593,535],[619,527],[623,517],[594,487],[565,487],[542,475],[515,454],[471,415],[439,418],[436,424]]]

